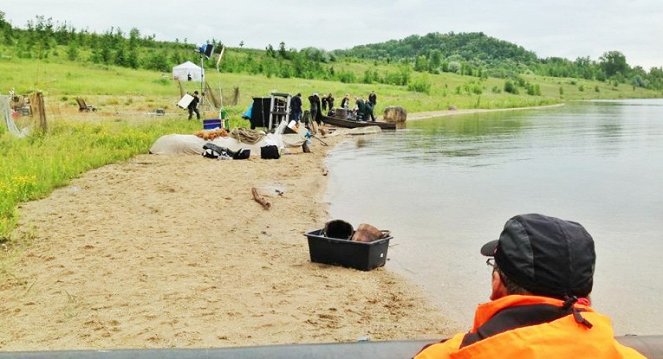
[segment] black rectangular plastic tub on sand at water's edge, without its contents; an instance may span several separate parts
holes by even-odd
[[[306,233],[311,262],[340,265],[369,271],[387,261],[391,236],[373,242],[356,242],[325,237],[323,229]]]

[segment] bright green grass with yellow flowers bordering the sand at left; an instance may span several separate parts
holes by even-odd
[[[199,123],[173,119],[149,124],[58,121],[48,134],[27,138],[0,136],[0,241],[9,239],[19,203],[47,196],[72,178],[106,164],[147,153],[161,135],[193,132]]]

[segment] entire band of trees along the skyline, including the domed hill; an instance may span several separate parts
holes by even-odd
[[[215,55],[223,44],[215,39]],[[36,16],[25,27],[14,27],[0,11],[0,58],[18,57],[46,61],[74,61],[169,72],[173,65],[186,60],[201,61],[198,46],[186,39],[157,41],[136,28],[128,33],[111,28],[103,34],[77,30],[67,23]],[[663,68],[649,72],[631,67],[619,51],[605,52],[598,60],[579,57],[540,59],[521,46],[483,33],[431,33],[412,35],[401,40],[356,46],[349,50],[324,51],[309,47],[287,48],[284,42],[264,50],[243,46],[226,51],[223,72],[264,74],[268,77],[297,77],[341,82],[408,85],[412,72],[456,73],[479,78],[517,79],[520,74],[579,78],[628,84],[663,90]],[[215,66],[217,56],[206,61]],[[371,62],[385,65],[378,71],[356,73],[341,64]],[[388,65],[388,66],[387,66]]]

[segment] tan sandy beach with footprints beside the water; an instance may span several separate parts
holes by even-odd
[[[23,204],[2,251],[0,350],[442,338],[442,308],[389,270],[311,263],[324,159],[139,155]],[[271,203],[254,201],[252,188]],[[397,238],[393,242],[397,242]]]

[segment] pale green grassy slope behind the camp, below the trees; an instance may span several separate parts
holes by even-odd
[[[229,50],[229,51],[232,51]],[[398,71],[398,65],[375,66],[371,61],[339,62],[335,66],[358,76],[366,71],[389,73]],[[180,97],[177,81],[170,73],[134,70],[118,66],[53,62],[35,59],[0,59],[0,71],[7,76],[0,78],[4,92],[15,89],[17,94],[42,91],[47,98],[47,109],[53,115],[66,114],[67,108],[76,108],[75,97],[85,97],[103,112],[141,113],[166,109],[170,113],[183,113],[175,107]],[[380,114],[386,106],[402,106],[409,112],[457,108],[507,108],[537,106],[564,101],[595,98],[648,98],[660,97],[661,92],[642,87],[573,78],[521,75],[516,80],[477,78],[452,73],[409,74],[408,85],[381,83],[343,83],[339,81],[267,77],[262,74],[217,72],[206,69],[206,79],[216,95],[226,99],[225,107],[237,116],[251,103],[253,96],[265,96],[271,91],[304,95],[332,93],[337,99],[344,94],[363,96],[374,90],[378,93]],[[505,91],[510,81],[516,93]],[[200,83],[183,82],[185,90],[199,89]],[[413,89],[422,84],[423,91]],[[528,88],[538,86],[536,94],[528,94]],[[230,105],[235,88],[239,88],[239,102]],[[56,111],[57,110],[57,111]],[[215,115],[209,113],[209,116]],[[239,123],[238,123],[239,125]]]

